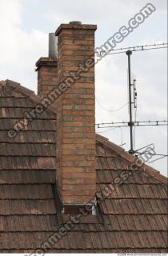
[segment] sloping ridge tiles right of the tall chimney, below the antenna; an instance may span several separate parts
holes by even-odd
[[[114,150],[116,153],[120,154],[120,156],[124,159],[126,159],[128,162],[133,163],[137,160],[137,158],[126,152],[126,150],[122,149],[121,146],[118,146],[117,144],[114,144],[113,142],[110,142],[108,138],[96,134],[96,140],[98,142],[101,142],[104,146],[109,147],[111,150]],[[168,178],[166,176],[160,174],[160,172],[156,169],[154,169],[151,166],[146,165],[145,163],[143,164],[143,171],[145,171],[147,174],[150,174],[153,178],[157,179],[159,182],[162,182],[164,184],[168,184]]]

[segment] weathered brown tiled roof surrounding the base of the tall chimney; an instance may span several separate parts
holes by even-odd
[[[24,111],[40,102],[14,82],[0,88],[0,253],[34,252],[57,232],[54,202],[55,113],[46,110],[14,139],[7,137]],[[134,157],[97,135],[98,191],[130,174],[98,203],[101,220],[83,217],[49,252],[167,252],[166,178],[149,166],[129,170]]]

